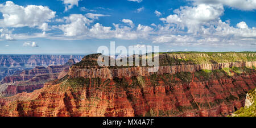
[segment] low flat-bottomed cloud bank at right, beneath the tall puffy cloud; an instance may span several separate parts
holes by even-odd
[[[169,31],[166,31],[166,28]],[[238,23],[237,27],[232,27],[221,19],[210,23],[209,26],[201,25],[199,30],[202,32],[196,35],[176,30],[177,28],[170,26],[159,28],[159,35],[153,37],[153,43],[167,43],[172,46],[248,46],[256,40],[256,28],[249,28],[243,22]]]

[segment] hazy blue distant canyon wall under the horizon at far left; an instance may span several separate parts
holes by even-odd
[[[0,55],[0,80],[16,71],[36,66],[63,65],[69,59],[79,62],[82,55]]]

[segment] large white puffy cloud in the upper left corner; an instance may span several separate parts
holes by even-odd
[[[48,30],[50,19],[55,18],[55,11],[46,6],[28,5],[26,7],[15,5],[11,1],[0,4],[0,12],[3,19],[0,19],[0,27],[38,27]]]

